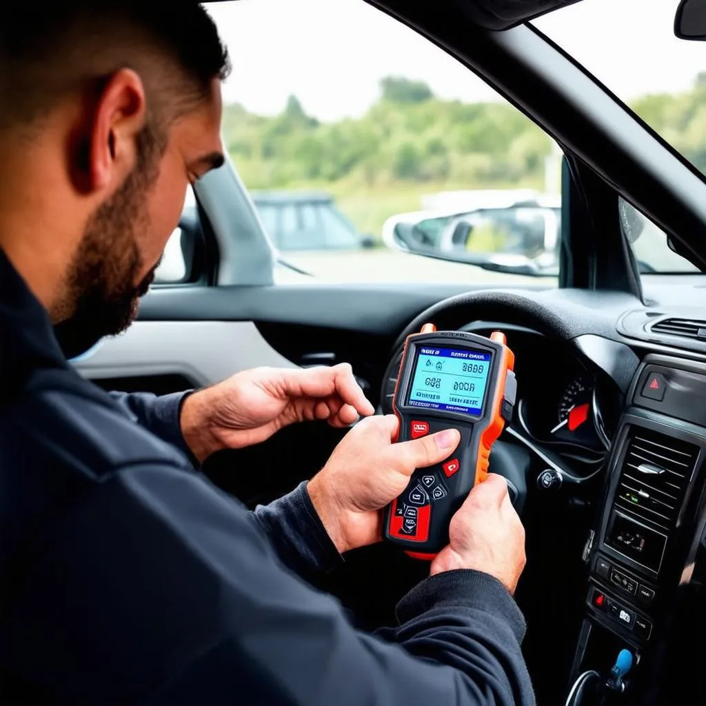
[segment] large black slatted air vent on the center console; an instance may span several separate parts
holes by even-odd
[[[636,427],[618,479],[616,507],[671,530],[698,455],[694,444]]]

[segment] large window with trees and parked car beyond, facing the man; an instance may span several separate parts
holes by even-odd
[[[358,1],[209,11],[236,67],[224,143],[283,260],[331,282],[556,286],[561,151],[467,68]]]

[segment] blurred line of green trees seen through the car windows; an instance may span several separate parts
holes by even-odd
[[[646,95],[631,107],[706,171],[706,73],[681,93]],[[514,107],[434,97],[425,83],[381,80],[381,97],[355,119],[320,123],[292,95],[279,115],[225,107],[227,149],[249,186],[405,185],[541,188],[549,138]],[[405,187],[406,188],[406,187]]]

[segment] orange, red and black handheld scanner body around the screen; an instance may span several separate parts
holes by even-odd
[[[481,414],[414,409],[407,405],[406,399],[400,399],[400,394],[403,398],[409,394],[412,370],[406,366],[416,364],[420,345],[448,345],[451,349],[460,347],[492,354]],[[428,433],[454,427],[462,434],[459,446],[449,459],[438,466],[417,469],[405,492],[385,508],[383,537],[402,546],[409,556],[431,561],[448,544],[448,525],[453,514],[472,487],[488,477],[491,448],[503,431],[505,421],[512,417],[516,391],[514,366],[515,355],[500,331],[486,338],[459,331],[438,332],[436,326],[428,323],[420,333],[409,335],[405,340],[393,397],[393,411],[399,421],[395,441],[419,436],[419,431],[413,431],[413,425],[422,432],[426,428]]]

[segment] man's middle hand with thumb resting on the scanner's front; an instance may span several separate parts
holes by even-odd
[[[393,415],[359,422],[309,481],[311,502],[341,554],[379,542],[379,510],[407,487],[415,468],[443,461],[460,441],[456,429],[446,429],[393,444],[397,426]]]

